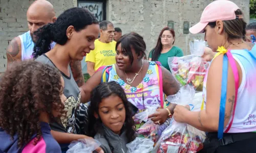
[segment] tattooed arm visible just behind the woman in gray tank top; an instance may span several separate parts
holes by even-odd
[[[70,62],[70,67],[76,84],[78,85],[78,87],[81,87],[84,84],[81,61],[72,60]]]

